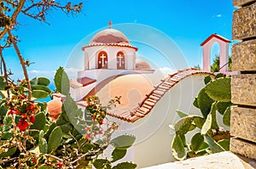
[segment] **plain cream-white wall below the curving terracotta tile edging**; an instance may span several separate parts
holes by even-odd
[[[141,120],[128,123],[111,118],[120,125],[117,135],[128,133],[136,136],[136,143],[126,155],[126,160],[134,161],[137,168],[174,161],[171,144],[175,132],[169,128],[169,125],[179,119],[176,110],[201,115],[200,110],[193,106],[193,101],[205,85],[204,77],[203,75],[189,76],[177,83]]]

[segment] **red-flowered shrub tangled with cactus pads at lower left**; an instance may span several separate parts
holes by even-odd
[[[108,121],[106,112],[119,98],[102,106],[96,96],[86,99],[83,111],[69,95],[67,74],[60,68],[55,75],[58,92],[68,93],[63,102],[61,115],[56,121],[49,118],[47,104],[37,101],[48,96],[49,80],[35,78],[32,84],[32,99],[27,99],[26,83],[0,81],[0,166],[3,168],[111,168],[131,147],[135,138],[122,135],[111,138],[117,125]],[[58,80],[61,79],[61,82]],[[44,87],[43,87],[44,86]],[[7,89],[7,90],[6,90]],[[66,91],[67,90],[67,91]],[[9,92],[9,97],[7,93]],[[47,94],[46,94],[47,93]],[[109,145],[113,146],[110,159],[99,159]],[[122,162],[113,168],[135,168],[131,162]]]

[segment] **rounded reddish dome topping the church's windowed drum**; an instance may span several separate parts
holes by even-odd
[[[106,29],[103,31],[100,31],[94,36],[91,41],[91,44],[97,44],[97,43],[108,43],[108,44],[125,44],[130,45],[130,42],[128,41],[127,37],[118,30],[115,29]]]

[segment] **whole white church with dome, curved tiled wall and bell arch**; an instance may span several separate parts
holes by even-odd
[[[205,76],[213,76],[210,61],[214,43],[219,45],[220,71],[234,73],[228,71],[227,65],[230,41],[212,34],[201,43],[203,70],[188,68],[162,77],[147,62],[137,59],[138,48],[109,22],[108,29],[96,33],[82,48],[84,70],[70,80],[71,96],[82,110],[88,95],[96,94],[101,101],[109,100],[107,96],[121,96],[123,103],[128,99],[131,109],[117,107],[107,112],[108,120],[119,126],[116,135],[136,136],[124,161],[134,161],[138,168],[174,161],[171,143],[175,132],[170,125],[179,119],[176,110],[201,115],[193,101],[205,86]]]

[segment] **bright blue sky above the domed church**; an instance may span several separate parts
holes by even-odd
[[[20,15],[15,34],[21,40],[19,47],[23,57],[35,62],[28,68],[31,76],[50,76],[60,65],[65,67],[73,48],[79,42],[80,45],[88,42],[88,35],[108,28],[108,20],[112,20],[113,28],[135,23],[160,31],[177,44],[188,66],[193,67],[202,64],[200,44],[212,33],[231,40],[233,10],[231,0],[88,0],[84,2],[83,14],[67,16],[61,11],[49,12],[50,25]],[[137,31],[130,30],[125,35],[132,37]],[[140,46],[136,42],[134,45]],[[146,49],[139,48],[138,54],[151,58],[152,62],[157,60]],[[4,54],[9,69],[22,78],[13,49],[5,50]],[[158,66],[165,67],[165,61]]]

